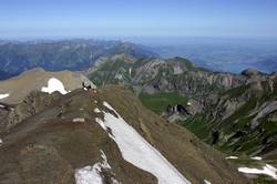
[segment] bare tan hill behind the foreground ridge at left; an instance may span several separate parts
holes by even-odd
[[[93,83],[81,73],[71,71],[47,72],[37,68],[19,76],[0,81],[0,102],[11,104],[20,103],[31,91],[41,91],[42,88],[48,88],[51,79],[58,80],[58,85],[59,83],[63,85],[61,88],[64,88],[64,91],[73,91],[78,88],[82,88],[82,82],[94,86]],[[8,96],[1,99],[1,95]]]

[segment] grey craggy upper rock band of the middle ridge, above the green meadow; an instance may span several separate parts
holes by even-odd
[[[192,95],[211,95],[247,82],[232,73],[215,73],[196,68],[186,59],[137,59],[125,54],[101,58],[86,74],[98,85],[121,83],[135,91],[179,91]]]

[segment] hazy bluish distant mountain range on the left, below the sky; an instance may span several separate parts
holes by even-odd
[[[64,40],[64,41],[3,41],[0,44],[2,72],[19,74],[32,68],[48,71],[83,70],[100,57],[126,53],[133,57],[156,57],[145,47],[121,41]],[[7,74],[1,74],[6,79]],[[9,74],[8,74],[9,75]]]

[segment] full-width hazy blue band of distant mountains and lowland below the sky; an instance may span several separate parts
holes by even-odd
[[[275,44],[191,41],[184,45],[145,47],[131,42],[83,39],[0,41],[0,64],[4,72],[0,73],[0,80],[38,67],[48,71],[84,70],[101,57],[121,53],[135,58],[183,57],[212,71],[239,73],[253,68],[270,73],[277,70]]]

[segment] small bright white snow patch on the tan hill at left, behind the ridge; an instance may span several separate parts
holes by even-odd
[[[61,81],[59,81],[58,79],[55,78],[51,78],[49,81],[48,81],[48,86],[43,86],[41,89],[42,92],[45,92],[45,93],[53,93],[55,91],[59,91],[61,94],[66,94],[68,92],[64,90],[64,86],[63,86],[63,83]]]

